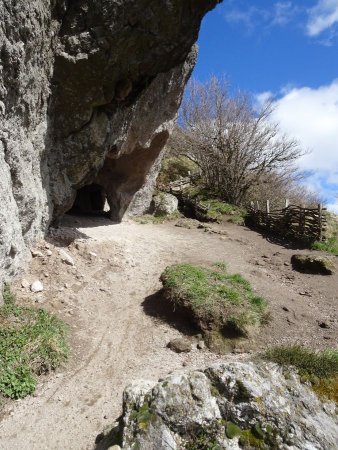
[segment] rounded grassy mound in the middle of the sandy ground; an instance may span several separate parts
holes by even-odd
[[[241,275],[227,273],[224,263],[212,268],[192,264],[169,266],[161,275],[167,297],[182,308],[203,332],[248,337],[265,322],[267,302]]]

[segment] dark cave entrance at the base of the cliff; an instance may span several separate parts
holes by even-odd
[[[107,195],[99,184],[89,184],[78,189],[70,214],[105,215],[107,207]]]

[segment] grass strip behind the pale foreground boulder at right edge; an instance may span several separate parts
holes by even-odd
[[[314,352],[301,346],[274,347],[263,358],[294,367],[301,380],[310,382],[320,397],[338,403],[338,350]]]

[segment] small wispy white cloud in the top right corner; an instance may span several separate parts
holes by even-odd
[[[319,0],[309,10],[307,33],[309,36],[318,36],[324,31],[332,29],[338,24],[338,1]]]

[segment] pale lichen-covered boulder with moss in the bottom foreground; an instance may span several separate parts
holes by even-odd
[[[124,450],[337,448],[338,416],[295,374],[233,362],[124,393]]]

